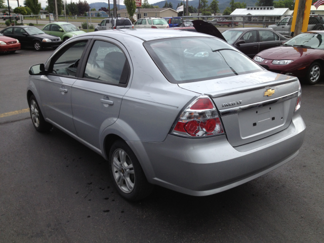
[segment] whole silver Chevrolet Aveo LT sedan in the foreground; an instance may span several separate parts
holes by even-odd
[[[29,74],[35,129],[55,126],[102,155],[128,200],[154,184],[230,189],[294,158],[305,135],[298,78],[198,32],[77,35]]]

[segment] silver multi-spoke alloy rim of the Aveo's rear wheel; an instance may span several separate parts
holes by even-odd
[[[111,161],[112,174],[119,189],[131,193],[135,186],[134,166],[125,150],[118,148],[114,151]]]

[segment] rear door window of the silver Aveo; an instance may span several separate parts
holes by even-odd
[[[96,41],[90,52],[85,78],[100,80],[107,84],[126,84],[129,65],[123,51],[108,42]]]

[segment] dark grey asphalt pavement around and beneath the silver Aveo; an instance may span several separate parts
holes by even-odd
[[[56,128],[35,131],[28,68],[51,53],[0,55],[0,242],[324,242],[324,78],[302,85],[307,131],[289,163],[215,195],[156,186],[129,203],[101,156]]]

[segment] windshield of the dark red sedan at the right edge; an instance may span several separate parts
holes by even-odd
[[[324,36],[319,33],[301,33],[290,39],[285,46],[324,49]]]

